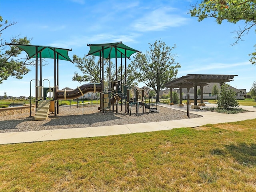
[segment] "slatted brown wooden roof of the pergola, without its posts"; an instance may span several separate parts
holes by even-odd
[[[209,83],[226,83],[233,80],[237,75],[211,75],[211,74],[188,74],[166,84],[168,88],[191,88],[196,86],[205,86]]]

